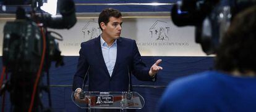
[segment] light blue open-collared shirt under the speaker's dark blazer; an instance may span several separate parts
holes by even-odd
[[[100,37],[101,51],[103,54],[103,58],[108,68],[108,73],[110,77],[112,76],[114,65],[116,64],[116,54],[117,54],[117,44],[116,40],[111,46],[103,40],[102,36]]]

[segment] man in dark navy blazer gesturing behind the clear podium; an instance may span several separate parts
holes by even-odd
[[[99,92],[128,91],[129,73],[142,81],[155,81],[156,73],[163,69],[158,66],[161,60],[147,68],[142,62],[136,42],[120,37],[121,12],[112,8],[105,9],[101,12],[98,23],[102,34],[81,44],[73,83],[75,98],[79,98],[77,93],[81,92],[87,79],[88,90]],[[87,72],[88,75],[85,76]]]

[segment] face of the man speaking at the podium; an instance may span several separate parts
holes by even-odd
[[[122,30],[122,17],[115,18],[110,17],[109,22],[105,25],[101,25],[103,32],[108,35],[111,39],[118,39],[121,35]]]

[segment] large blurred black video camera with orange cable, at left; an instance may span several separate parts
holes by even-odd
[[[32,6],[30,16],[26,15],[25,9],[17,7],[16,19],[6,22],[4,26],[2,62],[3,66],[6,66],[6,73],[11,73],[11,78],[0,86],[0,94],[5,90],[10,92],[13,111],[42,110],[40,92],[45,90],[49,94],[49,78],[48,86],[42,86],[40,71],[48,73],[53,61],[56,62],[56,66],[64,65],[57,42],[62,40],[62,36],[53,31],[47,31],[47,28],[69,29],[77,22],[74,1],[59,0],[57,7],[61,15],[55,17],[42,12],[40,7],[43,2],[45,1],[6,0],[2,2],[3,5],[30,4]],[[36,14],[38,11],[40,14]],[[59,38],[54,37],[53,34],[58,35]],[[37,84],[38,86],[35,86]],[[48,96],[51,106],[50,95]],[[32,101],[34,98],[35,100]]]

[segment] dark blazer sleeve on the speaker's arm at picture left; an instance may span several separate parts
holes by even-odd
[[[78,65],[77,65],[77,71],[74,75],[74,79],[73,79],[73,90],[75,91],[75,89],[77,88],[81,88],[82,89],[82,85],[83,85],[83,79],[85,77],[85,73],[88,69],[88,62],[87,62],[87,58],[85,55],[85,44],[81,44],[81,49],[79,51],[79,61],[78,61]],[[88,76],[86,76],[86,78],[84,79],[85,82],[87,81]],[[84,82],[84,83],[85,83]]]

